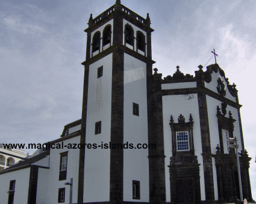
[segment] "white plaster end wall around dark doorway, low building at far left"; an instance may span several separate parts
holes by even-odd
[[[10,181],[16,180],[14,192],[14,204],[27,204],[28,203],[28,184],[30,182],[30,167],[20,169],[15,172],[4,173],[0,175],[0,203],[8,203],[7,193],[10,187]]]

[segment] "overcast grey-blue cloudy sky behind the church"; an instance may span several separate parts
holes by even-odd
[[[0,143],[44,143],[81,118],[86,32],[111,1],[2,0],[0,2]],[[256,200],[256,1],[121,1],[146,18],[153,65],[163,77],[176,65],[193,74],[217,63],[239,91],[245,148]],[[210,59],[210,61],[209,61]],[[208,62],[208,63],[207,63]],[[205,70],[205,67],[204,67]],[[33,150],[27,151],[33,153]]]

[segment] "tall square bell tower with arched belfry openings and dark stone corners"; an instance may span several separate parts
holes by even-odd
[[[150,24],[118,0],[90,15],[80,142],[97,148],[80,149],[78,203],[165,202],[164,173],[158,186],[152,151],[137,146],[153,137]]]

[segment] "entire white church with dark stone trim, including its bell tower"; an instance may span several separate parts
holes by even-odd
[[[120,0],[91,14],[81,119],[0,172],[0,203],[240,203],[235,137],[242,196],[255,203],[236,85],[218,64],[162,79],[150,24]]]

